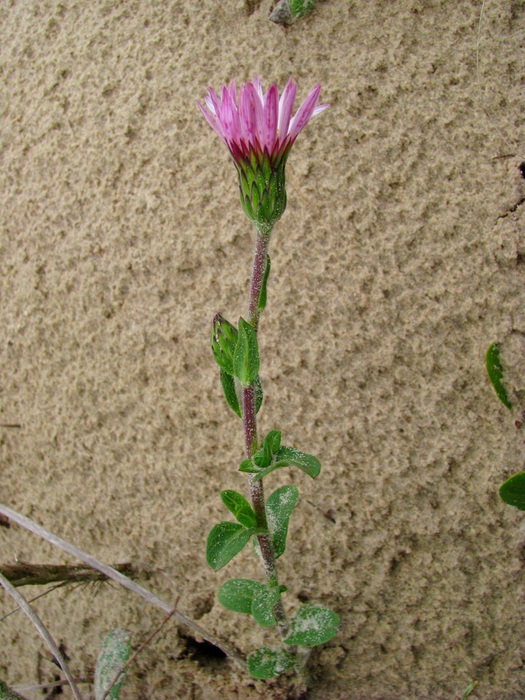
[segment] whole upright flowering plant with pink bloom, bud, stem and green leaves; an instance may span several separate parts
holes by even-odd
[[[260,558],[264,579],[233,578],[218,591],[228,610],[251,615],[263,627],[275,627],[276,647],[261,647],[248,657],[255,678],[272,678],[285,671],[302,672],[308,648],[324,644],[337,632],[339,618],[328,608],[308,603],[290,617],[277,561],[284,554],[290,516],[298,500],[296,486],[285,484],[266,497],[264,479],[277,469],[296,467],[315,479],[321,464],[313,455],[281,442],[281,431],[261,436],[257,414],[263,403],[259,376],[259,323],[266,307],[270,275],[268,254],[272,231],[286,209],[286,162],[299,133],[328,105],[318,104],[316,85],[292,116],[297,86],[290,79],[282,94],[276,84],[263,92],[257,77],[237,89],[234,82],[220,94],[209,89],[197,103],[212,129],[224,142],[236,167],[241,206],[254,227],[255,251],[245,317],[232,323],[221,314],[213,319],[211,349],[230,409],[240,419],[244,455],[239,471],[248,476],[248,498],[235,490],[221,491],[224,506],[235,521],[214,525],[206,542],[208,564],[218,571],[250,541]]]

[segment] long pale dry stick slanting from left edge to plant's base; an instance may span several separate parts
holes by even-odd
[[[119,573],[111,566],[108,566],[107,564],[104,564],[98,559],[95,559],[95,557],[92,557],[90,554],[83,552],[81,549],[78,549],[78,547],[75,547],[69,542],[66,542],[61,537],[58,537],[58,535],[49,532],[49,530],[46,530],[41,525],[37,525],[37,523],[35,523],[30,518],[27,518],[25,515],[17,513],[15,510],[12,510],[11,508],[3,505],[2,503],[0,503],[0,513],[2,515],[5,515],[13,522],[17,523],[17,525],[25,527],[26,530],[29,530],[33,534],[38,535],[38,537],[42,537],[43,539],[47,540],[51,544],[55,545],[55,547],[59,547],[68,554],[71,554],[71,556],[75,557],[76,559],[80,559],[80,561],[83,561],[85,564],[91,566],[93,569],[101,571],[108,578],[111,578],[113,579],[113,581],[120,583],[121,586],[124,586],[124,588],[127,588],[132,593],[141,596],[142,598],[144,598],[144,600],[147,600],[148,603],[150,603],[151,605],[155,605],[157,608],[164,610],[165,613],[171,613],[171,611],[173,610],[172,605],[168,605],[168,603],[165,603],[160,598],[157,598],[157,596],[151,593],[151,591],[148,591],[147,588],[139,586],[138,583],[131,581],[131,579]],[[213,644],[214,646],[218,647],[233,661],[235,661],[237,666],[239,666],[243,671],[247,672],[248,667],[246,666],[244,658],[237,651],[235,651],[235,649],[232,649],[229,645],[225,644],[220,639],[217,639],[215,635],[205,630],[203,627],[194,622],[191,618],[186,617],[184,613],[175,611],[173,615],[182,625],[191,630],[193,634],[200,635],[201,637],[206,639],[206,641],[210,642],[210,644]]]

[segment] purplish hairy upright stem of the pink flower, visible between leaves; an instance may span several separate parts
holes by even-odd
[[[248,307],[248,322],[253,326],[255,331],[258,331],[259,316],[259,297],[261,293],[261,285],[266,269],[266,259],[268,256],[268,246],[270,243],[270,234],[261,234],[257,231],[255,242],[255,253],[253,257],[252,279],[250,284],[250,302]],[[242,422],[244,429],[244,443],[246,456],[250,458],[258,448],[257,442],[257,412],[255,410],[255,388],[252,384],[249,387],[244,387],[242,390]],[[250,498],[252,501],[253,510],[257,518],[257,525],[265,530],[265,534],[257,535],[257,541],[261,550],[261,558],[266,573],[268,584],[272,587],[279,585],[277,576],[277,565],[275,562],[275,553],[270,539],[268,530],[268,520],[266,518],[266,508],[264,505],[264,488],[262,479],[254,480],[254,476],[249,476]],[[281,599],[274,606],[273,614],[277,621],[277,626],[283,637],[288,633],[288,621]]]

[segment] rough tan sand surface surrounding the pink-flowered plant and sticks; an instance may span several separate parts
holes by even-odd
[[[232,78],[291,75],[301,99],[321,82],[331,109],[289,161],[260,335],[261,432],[323,464],[267,487],[300,489],[289,609],[342,620],[308,698],[448,700],[476,680],[471,698],[518,700],[525,529],[497,488],[525,436],[484,354],[502,343],[518,407],[525,3],[326,0],[287,30],[271,0],[250,5],[1,2],[0,422],[21,426],[0,428],[1,501],[148,571],[243,653],[272,641],[215,600],[260,576],[250,553],[218,574],[204,559],[219,490],[245,489],[209,328],[245,312],[253,240],[195,101]],[[16,526],[0,554],[71,562]],[[36,608],[80,677],[106,631],[138,644],[162,619],[110,586]],[[183,634],[163,630],[121,697],[282,697],[191,660]],[[0,678],[36,681],[30,623],[2,621],[0,640]]]

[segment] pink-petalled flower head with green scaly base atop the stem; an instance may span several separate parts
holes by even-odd
[[[239,174],[241,204],[262,233],[269,233],[286,208],[284,169],[290,149],[310,119],[329,105],[317,104],[316,85],[292,117],[297,85],[290,79],[279,97],[275,83],[266,94],[256,77],[237,91],[232,81],[220,97],[212,88],[197,105],[224,141]]]

